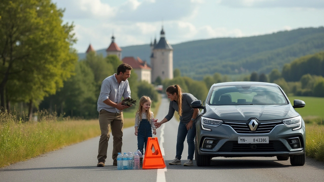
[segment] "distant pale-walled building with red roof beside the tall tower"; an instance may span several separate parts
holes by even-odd
[[[151,83],[152,68],[147,65],[146,61],[142,61],[139,57],[137,57],[136,59],[134,57],[124,57],[122,59],[122,62],[132,66],[132,71],[134,71],[138,75],[139,81],[145,80],[148,83]]]

